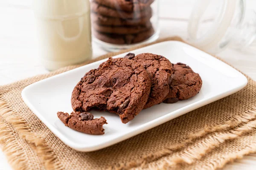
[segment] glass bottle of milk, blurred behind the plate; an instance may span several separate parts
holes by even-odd
[[[92,57],[89,0],[33,0],[38,51],[52,71]]]

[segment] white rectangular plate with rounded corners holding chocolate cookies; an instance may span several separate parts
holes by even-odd
[[[70,98],[73,88],[84,74],[107,59],[67,71],[48,79],[36,82],[22,91],[26,105],[44,122],[45,125],[68,146],[79,151],[93,151],[108,147],[128,139],[145,130],[200,108],[225,96],[233,94],[247,84],[247,79],[239,71],[220,60],[190,45],[177,41],[166,41],[140,48],[131,53],[154,53],[163,55],[172,63],[183,62],[199,73],[203,86],[199,94],[175,104],[155,105],[140,112],[127,124],[122,124],[114,113],[92,111],[96,118],[104,116],[104,135],[89,135],[66,127],[57,117],[58,111],[72,112]],[[125,53],[127,54],[127,53]],[[120,54],[116,57],[124,57]]]

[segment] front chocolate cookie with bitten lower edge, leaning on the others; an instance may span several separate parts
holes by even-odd
[[[74,111],[110,111],[127,123],[140,113],[150,93],[150,78],[131,59],[109,58],[87,72],[73,90]]]

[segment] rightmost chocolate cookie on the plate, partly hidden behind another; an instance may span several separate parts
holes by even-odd
[[[201,77],[188,65],[178,62],[173,68],[172,83],[164,103],[175,103],[178,100],[189,99],[198,94],[202,87]]]

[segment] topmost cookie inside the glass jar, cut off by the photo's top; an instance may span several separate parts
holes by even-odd
[[[102,6],[118,9],[120,11],[139,11],[147,8],[154,0],[93,0]]]

